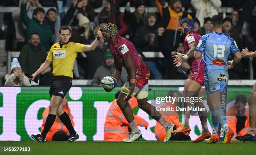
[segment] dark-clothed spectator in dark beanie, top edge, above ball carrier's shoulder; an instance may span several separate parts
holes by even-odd
[[[147,16],[146,16],[146,3],[141,0],[138,0],[135,5],[135,11],[131,13],[130,2],[127,3],[124,18],[125,22],[128,23],[128,29],[125,35],[125,38],[133,41],[133,36],[136,33],[137,28],[146,25]]]

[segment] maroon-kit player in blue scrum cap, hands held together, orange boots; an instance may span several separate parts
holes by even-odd
[[[180,21],[179,30],[181,36],[186,36],[184,40],[184,54],[178,53],[178,52],[172,52],[172,57],[174,60],[174,65],[179,67],[183,61],[187,60],[189,63],[189,66],[191,66],[191,69],[189,71],[189,77],[187,78],[185,85],[184,85],[184,91],[183,91],[183,97],[202,97],[205,94],[205,84],[204,84],[204,64],[202,61],[202,58],[195,59],[194,58],[194,52],[195,48],[197,47],[197,44],[200,40],[200,35],[194,30],[194,20],[190,18],[184,18]],[[189,102],[184,104],[187,109],[188,107],[192,107],[192,104]],[[200,107],[202,109],[205,109],[202,102],[195,103],[196,107]],[[191,114],[191,110],[186,110],[183,113],[183,122],[182,125],[173,133],[179,133],[179,132],[189,132],[189,117]],[[198,111],[200,121],[202,124],[202,133],[199,135],[197,139],[195,139],[193,142],[202,142],[205,139],[210,138],[211,133],[208,130],[207,126],[207,111]]]

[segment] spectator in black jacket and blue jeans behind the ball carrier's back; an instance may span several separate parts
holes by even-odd
[[[139,48],[138,51],[159,51],[156,31],[156,14],[148,13],[147,24],[139,27],[134,35],[133,42],[134,46]],[[146,58],[144,62],[148,65],[154,79],[162,79],[162,74],[159,71],[161,68],[159,59]]]

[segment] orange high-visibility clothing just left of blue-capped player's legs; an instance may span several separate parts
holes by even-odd
[[[176,104],[164,103],[163,106],[161,106],[161,107],[173,107],[174,108],[174,111],[159,111],[159,112],[160,112],[160,114],[162,114],[162,116],[164,116],[164,118],[168,122],[176,125],[176,127],[178,128],[179,125],[182,124],[182,122],[179,122],[179,115],[175,110]],[[164,127],[162,125],[160,125],[159,122],[156,122],[154,132],[155,132],[155,136],[156,136],[157,140],[164,140],[166,132],[165,132]]]

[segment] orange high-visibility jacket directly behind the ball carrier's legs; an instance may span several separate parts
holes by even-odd
[[[129,136],[128,126],[129,123],[125,119],[123,112],[116,103],[117,99],[114,99],[110,108],[108,109],[108,114],[106,116],[106,121],[104,124],[104,140],[105,141],[122,141]],[[132,97],[128,103],[131,108],[134,109],[138,106],[137,99]],[[141,127],[148,127],[148,122],[143,118],[133,115],[137,125]]]

